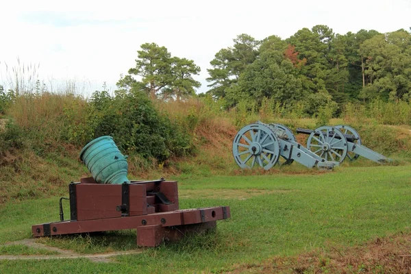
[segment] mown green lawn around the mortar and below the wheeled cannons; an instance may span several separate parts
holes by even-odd
[[[184,176],[179,195],[181,208],[230,206],[232,217],[219,221],[215,234],[117,256],[113,263],[3,260],[0,273],[220,273],[273,256],[360,245],[411,230],[410,165],[343,166],[319,174]],[[31,225],[59,219],[58,197],[8,203],[0,216],[0,244],[29,238]],[[134,231],[41,241],[81,253],[136,248]]]

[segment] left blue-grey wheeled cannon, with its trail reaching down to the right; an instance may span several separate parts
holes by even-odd
[[[338,165],[338,162],[325,160],[299,144],[285,125],[260,121],[238,131],[232,151],[234,160],[242,169],[260,166],[268,170],[275,164],[291,164],[294,161],[309,168],[332,169]]]

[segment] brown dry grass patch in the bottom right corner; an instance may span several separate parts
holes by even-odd
[[[360,247],[275,257],[230,273],[411,273],[411,234],[376,238]]]

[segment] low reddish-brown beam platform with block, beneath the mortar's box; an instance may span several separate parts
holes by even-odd
[[[186,233],[200,232],[215,227],[217,220],[230,217],[228,206],[175,210],[140,216],[94,219],[85,221],[62,221],[32,226],[34,237],[101,232],[120,229],[137,229],[137,244],[155,247],[162,240],[177,240]]]

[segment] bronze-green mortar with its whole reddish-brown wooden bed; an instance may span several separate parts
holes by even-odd
[[[80,153],[92,177],[69,184],[69,198],[60,198],[60,221],[32,226],[34,237],[136,229],[137,245],[155,247],[163,240],[216,227],[228,219],[228,206],[179,210],[176,181],[127,178],[127,156],[110,136],[89,142]],[[64,220],[62,200],[70,201]]]

